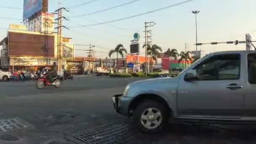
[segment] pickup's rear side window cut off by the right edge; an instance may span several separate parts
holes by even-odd
[[[256,53],[250,53],[247,56],[248,64],[248,82],[256,84]]]

